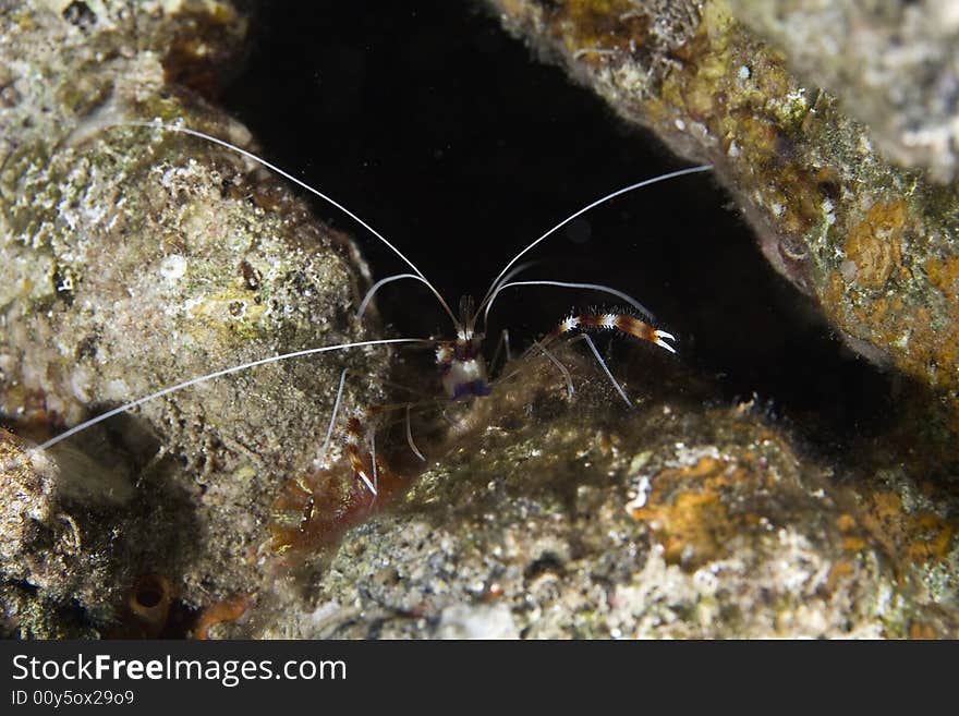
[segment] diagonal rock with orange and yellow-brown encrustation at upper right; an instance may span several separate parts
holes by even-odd
[[[713,162],[770,264],[853,350],[939,392],[959,429],[959,302],[935,278],[959,256],[955,184],[894,167],[724,0],[490,4],[620,116]]]

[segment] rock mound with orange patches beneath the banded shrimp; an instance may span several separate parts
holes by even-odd
[[[628,381],[635,412],[588,355],[557,355],[576,386],[571,402],[551,364],[521,362],[522,378],[461,414],[471,427],[319,567],[288,553],[307,563],[296,610],[223,633],[957,633],[955,500],[926,496],[903,517],[906,478],[839,487],[853,471],[806,454],[762,406],[678,400],[695,381],[658,355],[638,359],[642,378]]]

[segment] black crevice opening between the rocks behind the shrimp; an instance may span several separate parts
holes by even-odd
[[[573,211],[683,166],[536,61],[480,3],[375,8],[264,3],[246,68],[221,101],[268,158],[387,235],[453,307],[463,293],[482,295],[520,248]],[[317,211],[356,238],[376,278],[406,269],[348,217]],[[707,174],[598,207],[531,257],[543,263],[529,278],[635,296],[720,399],[755,395],[825,449],[869,438],[890,420],[895,378],[846,349],[774,271]],[[399,335],[450,331],[415,283],[384,289],[379,305]],[[490,329],[509,328],[525,344],[587,306],[616,303],[517,290],[498,300]]]

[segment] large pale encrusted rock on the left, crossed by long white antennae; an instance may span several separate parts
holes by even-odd
[[[0,5],[0,410],[21,436],[371,337],[352,317],[365,265],[287,185],[195,138],[112,126],[159,118],[250,145],[187,88],[211,90],[245,33],[229,2]],[[312,470],[340,369],[354,368],[345,404],[362,405],[386,361],[265,366],[146,403],[43,464],[4,463],[8,488],[28,485],[0,508],[4,579],[94,620],[149,572],[198,607],[259,590],[269,505]]]

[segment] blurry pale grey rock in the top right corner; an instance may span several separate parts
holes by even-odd
[[[959,173],[959,5],[951,0],[730,0],[806,83],[840,98],[879,149],[937,181]]]

